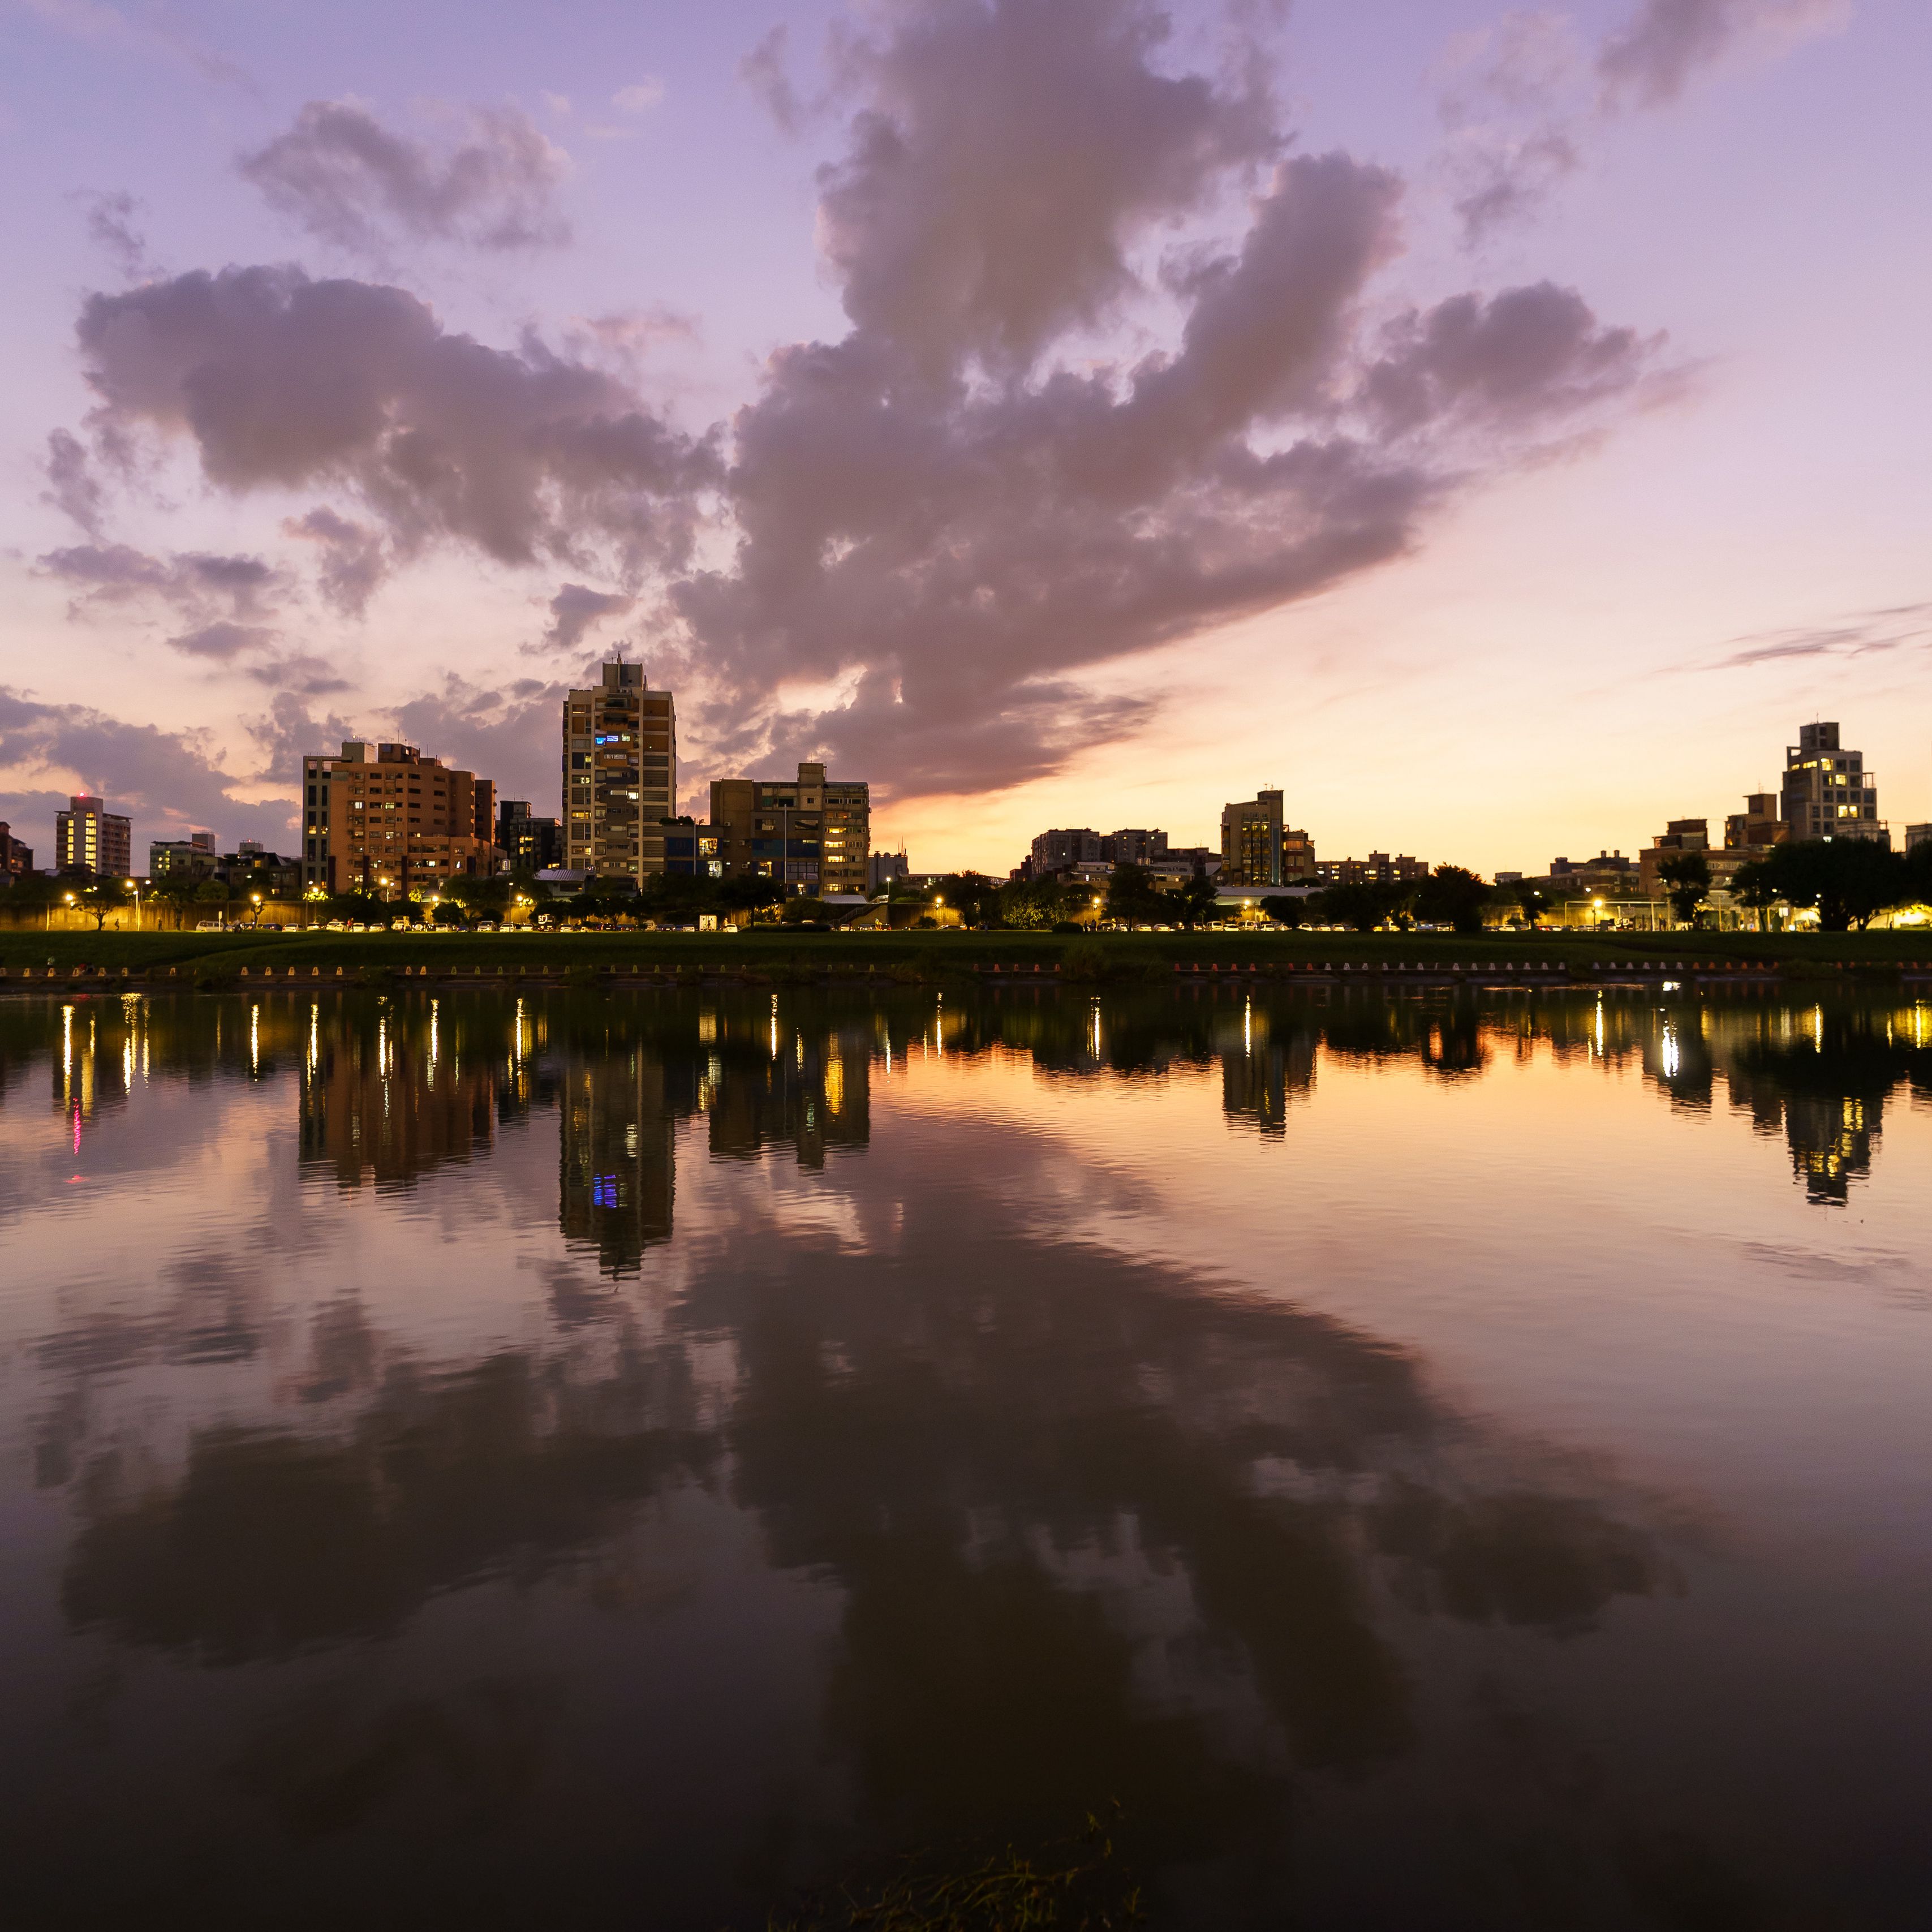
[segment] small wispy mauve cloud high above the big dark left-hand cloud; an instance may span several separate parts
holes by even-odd
[[[522,108],[475,108],[444,155],[352,100],[311,100],[288,133],[236,164],[269,205],[321,242],[386,261],[400,243],[556,247],[568,156]]]

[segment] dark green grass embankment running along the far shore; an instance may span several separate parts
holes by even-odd
[[[1072,954],[1072,958],[1068,958]],[[10,978],[48,964],[118,974],[129,968],[176,983],[240,978],[242,968],[321,968],[334,978],[429,968],[439,974],[732,972],[867,974],[914,978],[980,968],[1063,962],[1074,976],[1150,972],[1175,964],[1308,966],[1548,966],[1590,972],[1598,964],[1770,966],[1812,974],[1891,976],[1932,962],[1932,933],[39,933],[0,931],[0,968]],[[170,974],[168,968],[174,968]]]

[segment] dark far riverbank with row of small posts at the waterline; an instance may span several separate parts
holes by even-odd
[[[290,980],[1034,978],[1872,978],[1932,976],[1932,933],[0,933],[0,985]]]

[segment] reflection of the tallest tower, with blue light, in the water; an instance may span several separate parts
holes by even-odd
[[[636,1275],[643,1250],[670,1240],[676,1122],[665,1063],[630,1051],[580,1051],[564,1061],[562,1171],[556,1217],[593,1242],[607,1275]]]

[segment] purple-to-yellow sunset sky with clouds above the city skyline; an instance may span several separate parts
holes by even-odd
[[[402,738],[1542,871],[1932,819],[1920,0],[0,0],[0,819]],[[139,864],[139,860],[137,860]]]

